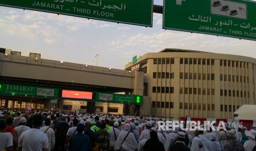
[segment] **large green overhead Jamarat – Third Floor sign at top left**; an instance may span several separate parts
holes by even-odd
[[[152,27],[153,0],[0,0],[0,5]]]

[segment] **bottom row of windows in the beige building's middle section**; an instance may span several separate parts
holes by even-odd
[[[192,106],[193,109],[215,111],[215,104],[179,102],[179,109],[192,109]]]

